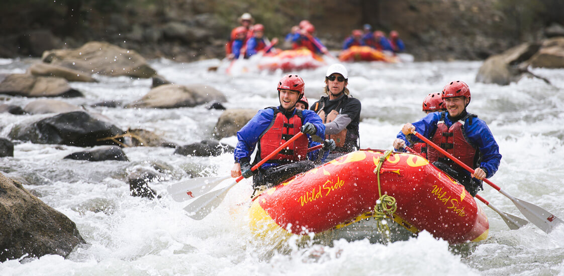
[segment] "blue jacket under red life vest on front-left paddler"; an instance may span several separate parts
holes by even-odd
[[[278,106],[278,110],[284,112],[281,106]],[[292,112],[292,115],[294,114],[296,114],[296,109]],[[315,128],[317,128],[317,132],[315,134],[319,137],[325,137],[325,126],[323,122],[321,122],[321,118],[319,118],[318,114],[312,110],[302,110],[302,116],[303,124],[314,124]],[[250,119],[248,123],[245,124],[243,128],[241,128],[241,130],[237,131],[237,140],[239,141],[237,142],[235,152],[233,153],[236,163],[241,163],[241,159],[250,163],[250,155],[254,152],[262,133],[270,126],[272,119],[274,119],[274,110],[271,108],[261,109],[252,119]],[[319,143],[315,143],[311,140],[310,135],[307,135],[307,139],[309,140],[310,148],[312,146],[319,145]],[[318,154],[319,150],[315,150],[314,152],[308,153],[307,158],[314,161],[318,158]],[[261,168],[266,169],[268,167],[278,165],[279,163],[276,162],[266,162],[261,166]]]

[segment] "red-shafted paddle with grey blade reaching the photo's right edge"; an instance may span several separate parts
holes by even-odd
[[[466,166],[466,164],[462,163],[462,161],[453,157],[446,150],[440,148],[438,145],[431,142],[425,136],[421,135],[420,133],[417,133],[417,131],[413,131],[413,134],[415,134],[415,136],[423,140],[428,145],[433,146],[433,148],[437,149],[440,153],[446,155],[452,161],[459,164],[462,168],[465,168],[465,170],[469,171],[470,173],[474,173],[474,170],[472,170],[472,168]],[[484,178],[483,181],[486,182],[488,185],[492,186],[493,189],[496,189],[498,192],[505,195],[505,197],[509,198],[513,202],[513,204],[517,206],[519,211],[521,211],[523,216],[527,218],[527,220],[531,221],[534,225],[536,225],[538,228],[543,230],[545,233],[550,233],[550,231],[552,231],[552,229],[554,229],[554,227],[556,227],[558,224],[564,223],[564,221],[558,219],[558,217],[548,212],[547,210],[544,210],[543,208],[536,206],[535,204],[523,201],[522,199],[514,198],[512,195],[502,190],[499,186],[493,184],[493,182],[491,182],[490,180]]]

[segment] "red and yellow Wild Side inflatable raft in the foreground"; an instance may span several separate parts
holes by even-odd
[[[306,235],[371,216],[380,198],[374,170],[382,155],[352,152],[266,190],[250,206],[250,228],[260,235]],[[487,238],[487,216],[472,195],[425,158],[392,153],[380,169],[380,186],[396,199],[394,221],[413,233],[427,230],[450,243]]]

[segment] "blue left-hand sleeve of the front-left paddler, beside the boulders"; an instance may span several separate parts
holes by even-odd
[[[270,125],[273,117],[274,110],[261,109],[241,130],[237,131],[238,141],[233,153],[236,163],[240,163],[241,158],[248,158],[250,162],[250,155],[257,145],[259,136]]]

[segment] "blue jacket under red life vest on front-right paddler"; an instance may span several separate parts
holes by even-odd
[[[440,112],[429,113],[426,117],[422,118],[420,121],[412,123],[415,126],[415,131],[421,135],[431,139],[435,131],[437,131],[437,122],[440,120]],[[499,153],[499,146],[497,145],[495,139],[493,138],[490,128],[486,125],[482,119],[478,117],[472,118],[472,124],[469,125],[470,118],[466,119],[464,123],[464,132],[466,137],[468,137],[469,143],[479,150],[482,154],[482,159],[480,161],[480,167],[486,172],[486,177],[492,177],[501,161],[501,154]],[[444,123],[447,127],[451,127],[453,123],[450,115],[444,118]],[[409,140],[413,143],[422,143],[423,141],[415,135],[409,135]],[[399,139],[406,141],[406,145],[410,145],[408,139],[403,134],[399,132]]]

